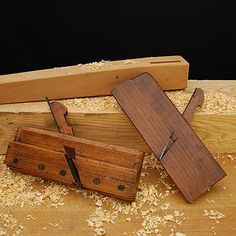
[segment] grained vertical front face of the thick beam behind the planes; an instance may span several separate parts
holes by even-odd
[[[75,136],[150,152],[123,113],[73,112],[68,114],[67,120]],[[233,152],[236,148],[235,124],[236,113],[197,112],[191,127],[210,151]],[[0,153],[6,153],[9,140],[13,139],[17,128],[24,125],[58,132],[50,112],[0,112]]]

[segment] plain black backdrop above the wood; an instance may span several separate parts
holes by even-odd
[[[182,55],[191,79],[235,79],[234,1],[8,1],[0,74]]]

